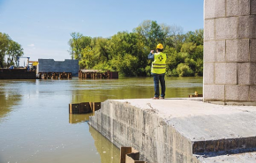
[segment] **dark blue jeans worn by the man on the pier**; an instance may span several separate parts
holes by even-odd
[[[154,74],[154,97],[159,97],[159,81],[161,84],[161,97],[165,96],[165,80],[164,80],[164,75],[165,74]]]

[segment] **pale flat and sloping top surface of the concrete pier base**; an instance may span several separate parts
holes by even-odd
[[[193,141],[256,137],[256,107],[223,106],[195,99],[117,100],[151,109]]]

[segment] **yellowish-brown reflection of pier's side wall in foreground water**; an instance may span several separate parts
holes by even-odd
[[[109,142],[106,137],[102,137],[93,127],[89,126],[89,131],[94,138],[95,147],[101,155],[101,163],[119,163],[120,152],[117,146]]]

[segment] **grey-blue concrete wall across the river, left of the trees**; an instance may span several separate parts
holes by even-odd
[[[39,72],[72,72],[72,76],[79,74],[79,61],[65,59],[54,61],[53,59],[38,59],[37,73]]]

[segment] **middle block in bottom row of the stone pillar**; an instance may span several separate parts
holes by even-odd
[[[225,100],[249,100],[249,85],[225,85]]]

